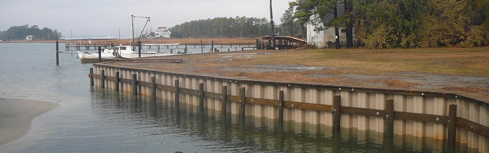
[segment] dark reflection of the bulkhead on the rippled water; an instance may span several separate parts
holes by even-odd
[[[440,152],[425,145],[414,148],[404,141],[386,140],[382,133],[342,129],[333,132],[324,125],[300,124],[246,116],[245,123],[235,114],[222,117],[221,112],[174,103],[149,96],[133,96],[122,91],[95,88],[91,99],[94,113],[130,117],[142,135],[169,133],[197,138],[220,145],[199,147],[216,152]],[[101,100],[103,99],[103,100]],[[110,118],[106,118],[110,119]],[[170,135],[172,135],[170,134]],[[396,138],[395,138],[396,139]],[[185,140],[175,139],[175,141]]]

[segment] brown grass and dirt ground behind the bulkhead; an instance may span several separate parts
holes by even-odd
[[[112,65],[254,79],[489,95],[489,47],[253,50],[171,58],[182,58],[184,64]]]

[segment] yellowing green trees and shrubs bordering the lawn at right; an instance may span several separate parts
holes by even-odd
[[[344,15],[338,15],[343,4]],[[485,46],[489,44],[489,0],[295,0],[291,20],[321,31],[346,29],[346,47]],[[333,19],[325,20],[325,17]]]

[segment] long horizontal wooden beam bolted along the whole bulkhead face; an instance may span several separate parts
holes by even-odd
[[[104,74],[103,70],[101,70],[101,74]],[[463,129],[467,129],[468,131],[472,131],[478,135],[481,135],[483,137],[489,138],[489,127],[486,127],[484,125],[472,122],[470,120],[467,120],[462,117],[456,117],[456,107],[450,107],[450,113],[448,116],[445,115],[435,115],[435,114],[424,114],[424,113],[414,113],[414,112],[403,112],[403,111],[393,111],[394,109],[394,104],[392,99],[387,99],[386,100],[386,107],[385,109],[366,109],[366,108],[357,108],[357,107],[346,107],[346,106],[341,106],[340,103],[340,97],[335,96],[334,97],[334,105],[325,105],[325,104],[313,104],[313,103],[306,103],[306,102],[294,102],[294,101],[283,101],[283,97],[279,97],[279,100],[276,99],[266,99],[266,98],[254,98],[254,97],[244,97],[244,93],[240,93],[241,96],[235,96],[235,95],[226,95],[223,96],[222,93],[216,93],[216,92],[209,92],[209,91],[201,91],[203,90],[202,87],[200,87],[200,90],[196,89],[190,89],[190,88],[184,88],[184,87],[175,87],[175,86],[168,86],[168,85],[162,85],[162,84],[156,84],[155,82],[144,82],[144,81],[137,81],[134,80],[136,74],[133,74],[133,79],[124,79],[124,78],[116,78],[112,76],[105,76],[101,74],[93,74],[93,71],[90,69],[90,74],[89,77],[92,78],[97,78],[97,79],[102,79],[104,81],[116,81],[118,80],[119,82],[123,82],[126,84],[136,84],[133,85],[133,90],[137,91],[137,86],[141,87],[152,87],[156,86],[155,88],[161,89],[161,90],[166,90],[166,91],[174,91],[178,92],[178,94],[189,94],[189,95],[196,95],[200,96],[200,99],[206,97],[206,98],[214,98],[214,99],[222,99],[226,98],[226,102],[239,102],[239,103],[248,103],[248,104],[258,104],[258,105],[266,105],[266,106],[277,106],[278,109],[281,109],[282,105],[285,108],[293,108],[293,109],[306,109],[306,110],[314,110],[314,111],[327,111],[327,112],[333,112],[334,114],[355,114],[355,115],[365,115],[365,116],[376,116],[376,117],[382,117],[384,118],[384,124],[386,125],[386,130],[385,130],[385,135],[387,137],[392,137],[392,130],[393,130],[393,120],[392,119],[400,119],[400,120],[412,120],[412,121],[422,121],[422,122],[432,122],[432,123],[441,123],[441,124],[447,124],[448,126],[451,125],[456,125],[457,127],[461,127]],[[90,80],[91,80],[90,79]],[[116,83],[118,84],[118,83]],[[178,85],[178,82],[176,82],[176,85]],[[202,84],[200,84],[202,86]],[[134,88],[135,87],[135,88]],[[244,87],[241,87],[244,91]],[[280,91],[282,93],[279,93],[279,95],[283,96],[283,91]],[[176,96],[178,97],[178,96]],[[243,101],[244,100],[244,101]],[[337,105],[335,107],[335,105]],[[453,105],[456,106],[456,105]],[[339,108],[339,109],[338,109]],[[244,107],[240,107],[240,112],[244,112]],[[279,113],[281,111],[279,110]],[[336,113],[338,112],[338,113]],[[283,114],[282,114],[283,115]],[[337,116],[337,115],[334,115]],[[338,116],[339,117],[339,116]],[[241,118],[241,117],[240,117]],[[283,116],[279,116],[279,118],[283,119]],[[450,120],[451,118],[451,120]],[[455,119],[456,118],[456,119]],[[334,118],[333,118],[334,119]],[[333,122],[340,122],[340,118],[335,119]],[[455,123],[455,124],[453,124]],[[339,124],[336,124],[339,125]],[[334,126],[334,125],[333,125]],[[390,127],[389,127],[390,126]],[[450,129],[450,128],[449,128]],[[452,128],[453,129],[453,128]],[[448,135],[455,135],[454,130],[448,130]],[[455,142],[455,137],[448,137],[450,138],[448,142]],[[453,139],[453,140],[451,140]]]

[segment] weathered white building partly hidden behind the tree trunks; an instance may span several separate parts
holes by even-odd
[[[338,3],[336,5],[338,16],[342,16],[345,14],[345,6],[342,3]],[[333,12],[333,10],[332,10]],[[311,17],[315,18],[315,17]],[[307,42],[308,44],[315,45],[318,48],[332,48],[334,47],[334,42],[336,41],[336,35],[334,34],[334,26],[329,26],[328,22],[329,20],[333,19],[334,16],[332,13],[328,13],[325,17],[323,22],[320,22],[318,25],[312,25],[311,22],[308,22],[307,24]],[[317,31],[315,30],[316,27],[322,27],[322,29],[327,30],[321,30]],[[329,27],[329,28],[328,28]],[[355,31],[355,30],[353,30]],[[345,27],[338,27],[338,32],[339,32],[339,41],[341,46],[346,45],[346,28]],[[356,45],[356,36],[355,32],[353,33],[353,45]],[[333,45],[328,45],[328,42],[333,43]]]

